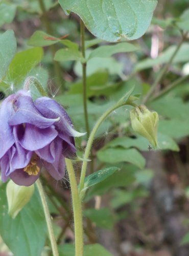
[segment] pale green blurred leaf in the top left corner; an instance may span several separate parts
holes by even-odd
[[[11,23],[16,14],[16,5],[1,3],[0,4],[0,26]]]

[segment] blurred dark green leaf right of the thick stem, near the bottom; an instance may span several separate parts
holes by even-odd
[[[88,217],[97,226],[112,229],[114,225],[114,218],[108,208],[101,209],[85,209],[83,211],[83,216]]]

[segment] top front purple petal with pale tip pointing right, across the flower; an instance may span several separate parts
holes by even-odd
[[[30,123],[39,128],[46,128],[51,126],[59,119],[50,119],[43,117],[35,108],[33,100],[30,96],[23,96],[18,94],[14,100],[15,114],[9,119],[10,125],[17,125],[21,123]]]

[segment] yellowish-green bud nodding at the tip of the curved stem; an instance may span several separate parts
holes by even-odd
[[[157,126],[159,117],[157,112],[149,111],[145,105],[139,105],[130,112],[133,130],[149,140],[153,147],[157,147]]]

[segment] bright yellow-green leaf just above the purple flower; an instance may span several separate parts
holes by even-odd
[[[4,81],[13,86],[20,86],[31,70],[41,61],[42,48],[35,47],[17,53],[10,63]]]

